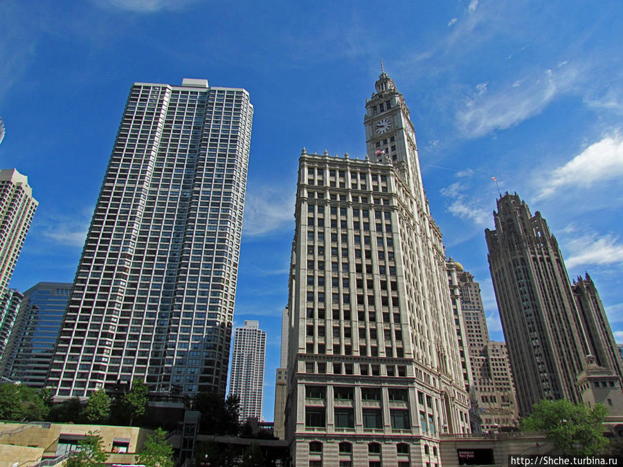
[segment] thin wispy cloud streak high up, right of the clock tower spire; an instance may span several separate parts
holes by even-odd
[[[565,66],[555,73],[545,70],[513,80],[495,92],[487,92],[487,83],[478,84],[476,92],[456,111],[456,124],[468,138],[513,127],[541,112],[559,93],[569,91],[578,76],[577,68]]]

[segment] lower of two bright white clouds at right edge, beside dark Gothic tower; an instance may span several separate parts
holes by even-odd
[[[565,261],[567,268],[589,264],[623,263],[623,244],[614,235],[584,235],[567,244],[571,256]]]

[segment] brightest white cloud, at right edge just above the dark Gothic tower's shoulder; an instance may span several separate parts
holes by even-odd
[[[623,136],[605,136],[548,176],[536,200],[547,198],[561,187],[590,187],[597,181],[623,176]]]

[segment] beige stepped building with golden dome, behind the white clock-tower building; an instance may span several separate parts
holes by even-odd
[[[451,295],[455,289],[458,291],[459,303],[453,300],[455,318],[459,320],[455,321],[457,338],[461,357],[467,356],[464,368],[468,369],[469,377],[466,382],[473,409],[478,414],[474,416],[470,412],[472,423],[478,423],[478,431],[483,432],[516,427],[518,407],[506,344],[489,340],[480,286],[473,275],[452,259],[447,266]]]

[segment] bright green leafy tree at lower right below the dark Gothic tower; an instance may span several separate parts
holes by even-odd
[[[530,416],[521,422],[523,431],[542,431],[563,454],[596,455],[608,446],[602,421],[608,410],[597,404],[591,410],[584,403],[566,399],[534,404]]]

